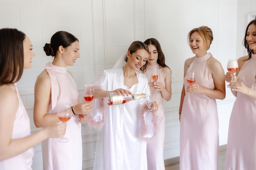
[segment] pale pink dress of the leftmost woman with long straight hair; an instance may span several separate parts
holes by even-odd
[[[11,139],[18,139],[30,135],[30,121],[29,116],[27,115],[27,111],[22,103],[22,100],[20,99],[16,83],[14,86],[16,88],[19,108],[15,116]],[[34,149],[30,148],[20,155],[4,161],[0,161],[0,170],[32,170],[31,165],[33,155]]]

